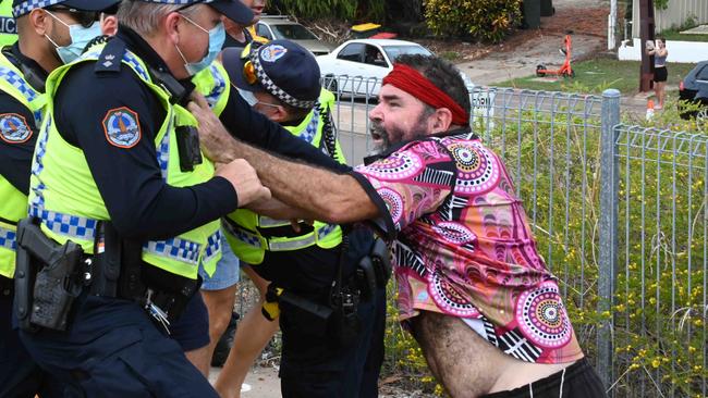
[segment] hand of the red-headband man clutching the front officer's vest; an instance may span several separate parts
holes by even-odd
[[[199,145],[204,153],[215,163],[229,163],[233,157],[228,148],[234,142],[221,121],[211,111],[207,100],[194,91],[187,109],[199,122]]]

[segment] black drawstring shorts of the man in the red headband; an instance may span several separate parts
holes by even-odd
[[[499,391],[483,396],[483,398],[606,398],[605,387],[600,377],[583,358],[567,366],[565,372],[553,373],[523,387],[509,391]],[[561,391],[562,386],[562,391]],[[532,394],[533,390],[533,394]]]

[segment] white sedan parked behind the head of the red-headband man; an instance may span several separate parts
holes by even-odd
[[[394,39],[354,39],[327,55],[317,57],[324,85],[332,92],[376,97],[381,79],[393,70],[393,61],[402,54],[431,55],[427,48],[412,41]],[[465,84],[474,86],[461,73]]]

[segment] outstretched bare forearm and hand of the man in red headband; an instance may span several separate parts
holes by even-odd
[[[376,203],[351,175],[283,160],[234,139],[203,98],[195,98],[188,108],[199,121],[200,142],[209,159],[220,163],[245,159],[276,198],[304,210],[300,217],[343,224],[379,216]]]

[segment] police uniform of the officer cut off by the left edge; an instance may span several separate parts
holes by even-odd
[[[21,67],[38,76],[34,86]],[[47,72],[15,43],[0,54],[0,397],[29,397],[40,390],[44,375],[12,329],[12,277],[16,224],[27,214],[29,169]]]

